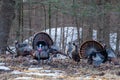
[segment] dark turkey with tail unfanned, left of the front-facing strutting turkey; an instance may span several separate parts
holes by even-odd
[[[17,53],[16,57],[26,56],[32,53],[32,48],[27,43],[15,42],[15,48],[16,48],[16,53]]]

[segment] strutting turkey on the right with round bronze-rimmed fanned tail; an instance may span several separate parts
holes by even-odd
[[[103,46],[94,40],[85,41],[80,47],[80,53],[83,58],[88,59],[89,64],[99,66],[101,63],[105,62],[107,57],[104,52]]]

